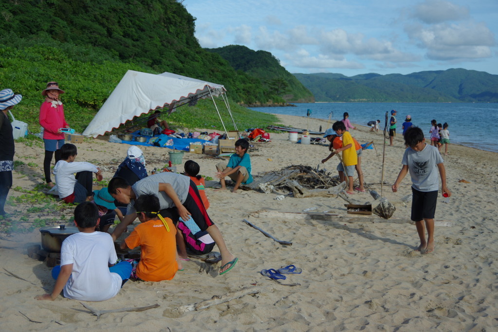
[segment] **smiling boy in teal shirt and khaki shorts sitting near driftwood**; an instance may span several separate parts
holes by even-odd
[[[250,156],[247,153],[249,149],[249,142],[247,139],[241,138],[235,142],[235,154],[230,156],[228,164],[220,162],[216,165],[216,177],[220,179],[221,188],[218,190],[226,189],[225,177],[230,177],[235,186],[232,193],[237,193],[237,189],[242,184],[247,185],[252,182],[252,175],[250,174]]]

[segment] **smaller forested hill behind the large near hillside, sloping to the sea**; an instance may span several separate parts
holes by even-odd
[[[280,65],[280,61],[266,51],[253,51],[246,46],[229,45],[207,49],[220,54],[235,70],[258,78],[264,89],[269,91],[268,99],[286,103],[313,103],[312,93],[292,74]]]

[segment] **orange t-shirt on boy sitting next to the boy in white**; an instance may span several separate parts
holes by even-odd
[[[136,275],[144,281],[171,280],[178,271],[176,263],[176,227],[164,218],[169,231],[160,220],[142,222],[124,240],[128,248],[140,246],[141,257]]]

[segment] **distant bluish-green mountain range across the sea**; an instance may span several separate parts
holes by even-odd
[[[317,102],[498,102],[498,75],[461,68],[408,75],[293,75]]]

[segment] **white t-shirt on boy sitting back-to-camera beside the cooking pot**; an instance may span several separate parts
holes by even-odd
[[[123,281],[118,273],[109,271],[108,264],[117,259],[110,234],[95,231],[70,235],[61,248],[61,266],[73,264],[64,296],[82,301],[104,301],[116,296]]]

